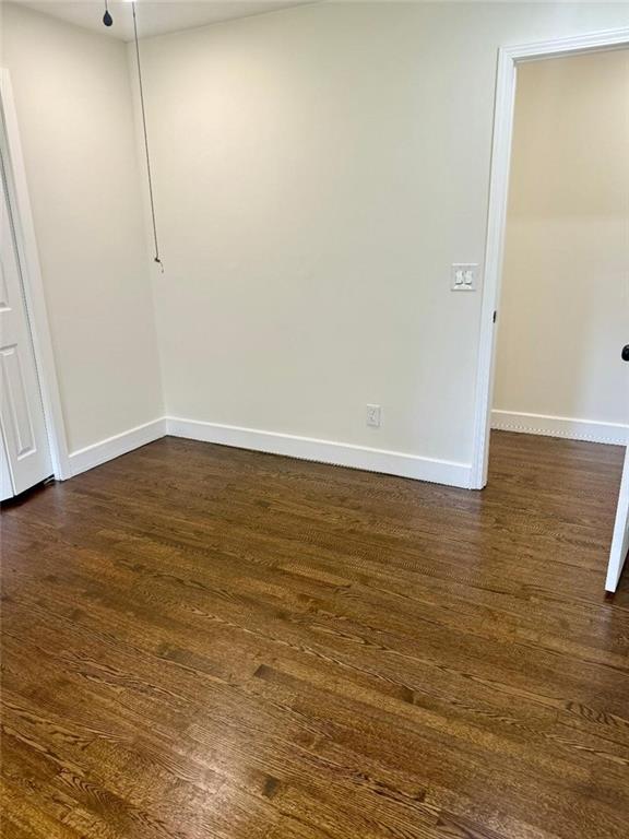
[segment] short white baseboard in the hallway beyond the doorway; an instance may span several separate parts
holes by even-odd
[[[541,434],[545,437],[566,437],[570,440],[607,442],[626,446],[629,425],[600,423],[594,420],[573,420],[568,416],[520,414],[514,411],[491,411],[491,428],[521,434]]]

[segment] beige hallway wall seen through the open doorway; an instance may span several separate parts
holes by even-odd
[[[629,50],[519,70],[499,323],[495,426],[626,439]]]

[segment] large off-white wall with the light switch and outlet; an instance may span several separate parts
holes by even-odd
[[[167,413],[470,463],[480,293],[449,270],[483,260],[498,47],[628,24],[334,2],[144,42]]]

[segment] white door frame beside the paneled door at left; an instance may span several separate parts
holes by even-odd
[[[31,324],[35,364],[37,366],[44,402],[48,445],[50,447],[55,477],[58,481],[64,481],[72,476],[68,438],[61,407],[50,328],[48,326],[48,312],[44,296],[44,283],[41,281],[41,270],[37,253],[33,213],[28,199],[13,88],[9,71],[3,68],[0,68],[0,108],[2,111],[0,115],[2,117],[1,122],[4,126],[2,130],[2,125],[0,123],[0,133],[2,134],[0,141],[3,146],[4,144],[7,146],[4,151],[8,158],[5,163],[8,168],[9,198],[13,210],[14,226],[16,227],[17,256],[22,269],[26,312]]]

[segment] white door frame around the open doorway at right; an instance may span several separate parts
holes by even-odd
[[[494,144],[489,180],[489,209],[487,215],[487,244],[485,248],[485,282],[483,286],[480,342],[476,374],[474,448],[470,481],[472,489],[483,489],[487,484],[496,361],[494,312],[498,310],[502,275],[518,64],[524,61],[621,49],[622,47],[629,47],[629,28],[607,29],[592,35],[543,40],[514,47],[501,47],[499,49]],[[618,347],[618,352],[620,350],[621,347]]]

